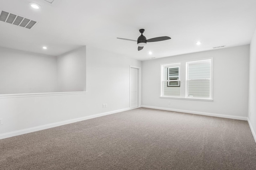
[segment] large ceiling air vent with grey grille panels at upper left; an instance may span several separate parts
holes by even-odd
[[[0,21],[8,22],[14,25],[19,25],[21,27],[25,28],[32,28],[34,25],[36,25],[36,21],[29,20],[27,18],[17,16],[14,14],[10,14],[8,12],[2,11],[0,15]]]

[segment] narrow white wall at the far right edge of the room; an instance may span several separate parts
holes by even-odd
[[[250,44],[248,120],[256,141],[256,30]],[[250,114],[251,113],[251,114]]]

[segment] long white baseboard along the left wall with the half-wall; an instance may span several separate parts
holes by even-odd
[[[79,117],[79,118],[76,118],[76,119],[70,119],[70,120],[60,121],[60,122],[56,122],[56,123],[50,123],[50,124],[47,124],[47,125],[31,127],[31,128],[28,128],[28,129],[22,129],[22,130],[12,131],[12,132],[8,132],[8,133],[2,133],[2,134],[0,134],[0,139],[5,139],[5,138],[8,138],[8,137],[14,137],[14,136],[18,136],[18,135],[23,135],[23,134],[26,134],[26,133],[31,133],[31,132],[35,132],[35,131],[44,130],[44,129],[49,129],[49,128],[52,128],[52,127],[66,125],[66,124],[69,124],[69,123],[75,123],[75,122],[78,122],[78,121],[83,121],[83,120],[92,119],[92,118],[95,118],[95,117],[110,115],[110,114],[113,114],[113,113],[118,113],[118,112],[127,111],[127,110],[130,110],[130,108],[119,109],[119,110],[109,111],[109,112],[90,115],[90,116],[85,116],[85,117]]]

